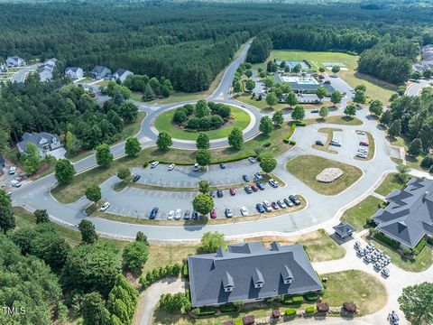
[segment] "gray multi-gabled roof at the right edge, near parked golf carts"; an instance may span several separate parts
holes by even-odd
[[[412,178],[385,200],[388,206],[373,215],[377,231],[409,248],[423,237],[433,237],[433,180]]]

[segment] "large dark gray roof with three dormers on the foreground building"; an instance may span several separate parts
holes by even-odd
[[[188,257],[193,307],[254,302],[323,289],[301,245],[253,242]]]

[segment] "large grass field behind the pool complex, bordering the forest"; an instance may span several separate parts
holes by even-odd
[[[389,103],[389,99],[396,90],[396,86],[386,83],[379,79],[374,79],[373,77],[364,75],[356,71],[357,68],[357,60],[358,56],[349,55],[340,52],[323,52],[323,51],[298,51],[298,50],[290,50],[290,51],[271,51],[270,57],[265,60],[264,63],[255,64],[254,67],[258,68],[259,66],[266,70],[266,62],[268,60],[307,60],[310,64],[312,64],[313,70],[318,70],[318,68],[313,64],[320,68],[325,68],[321,62],[341,62],[345,64],[345,68],[347,71],[338,72],[338,76],[352,87],[356,87],[359,84],[364,84],[367,87],[366,95],[373,99],[380,99],[382,102],[387,105]],[[329,70],[327,70],[328,74],[331,74]]]

